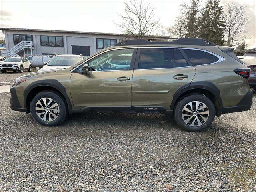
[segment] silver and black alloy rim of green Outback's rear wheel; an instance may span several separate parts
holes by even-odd
[[[209,110],[206,104],[200,101],[192,101],[182,109],[182,120],[192,127],[203,125],[209,118]]]

